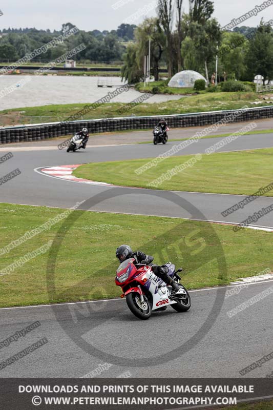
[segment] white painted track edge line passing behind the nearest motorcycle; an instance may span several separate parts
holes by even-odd
[[[268,282],[273,282],[273,279],[271,280],[265,280],[263,282],[253,282],[253,283],[248,283],[248,285],[259,285],[263,283],[268,283]],[[245,286],[245,283],[242,283],[242,285]],[[213,288],[202,288],[202,289],[193,289],[188,291],[188,293],[194,293],[194,292],[206,292],[206,291],[217,291],[219,289],[226,289],[226,288],[238,288],[240,284],[238,285],[225,285],[225,286],[214,286]],[[70,304],[82,304],[82,303],[98,303],[98,302],[113,302],[113,301],[124,301],[124,299],[121,298],[115,298],[115,299],[99,299],[99,300],[86,300],[84,302],[64,302],[64,303],[51,303],[51,304],[35,304],[31,306],[11,306],[10,308],[0,308],[0,311],[3,310],[9,310],[9,309],[29,309],[29,308],[48,308],[51,306],[64,306],[64,305],[70,305]]]

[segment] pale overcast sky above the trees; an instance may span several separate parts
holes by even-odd
[[[121,23],[132,22],[138,25],[145,16],[156,14],[155,0],[119,0],[121,7],[114,10],[113,4],[118,0],[2,0],[0,9],[4,13],[0,17],[0,29],[8,27],[35,27],[37,29],[60,29],[62,23],[71,22],[82,30],[112,30]],[[233,18],[254,9],[264,0],[216,0],[214,16],[221,26],[228,24]],[[184,0],[185,12],[188,1]],[[145,10],[147,11],[146,14]],[[139,17],[134,16],[138,13]],[[273,18],[272,5],[257,16],[249,18],[243,25],[257,26],[264,17],[265,21]]]

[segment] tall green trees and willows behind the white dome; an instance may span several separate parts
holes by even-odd
[[[211,0],[190,0],[189,13],[182,13],[183,0],[158,0],[157,17],[146,18],[135,29],[135,41],[124,54],[122,75],[129,83],[143,79],[144,56],[151,39],[151,75],[159,79],[165,63],[168,76],[195,70],[207,81],[215,72],[222,78],[253,81],[261,74],[273,79],[273,31],[261,20],[258,27],[236,27],[223,31],[212,17]]]

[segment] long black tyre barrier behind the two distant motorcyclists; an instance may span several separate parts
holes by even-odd
[[[215,124],[236,110],[211,111],[204,113],[165,115],[168,125],[171,128],[183,127],[202,127]],[[253,121],[256,119],[273,117],[273,106],[247,108],[232,121]],[[104,118],[64,122],[50,122],[48,124],[32,124],[26,126],[13,126],[0,128],[0,143],[20,141],[38,141],[73,135],[82,127],[87,127],[90,133],[123,131],[134,129],[153,129],[159,120],[159,116],[149,117],[123,117],[123,118]]]

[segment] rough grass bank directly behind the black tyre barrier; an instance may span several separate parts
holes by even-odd
[[[107,94],[106,90],[106,94]],[[151,94],[152,96],[152,94]],[[95,109],[92,109],[88,114],[84,115],[83,119],[92,118],[108,118],[122,117],[135,114],[142,115],[158,115],[164,116],[167,114],[183,114],[204,111],[217,110],[235,110],[245,106],[252,107],[252,101],[256,101],[259,96],[256,93],[205,93],[193,95],[191,97],[183,97],[179,100],[165,101],[164,103],[148,102],[138,104],[128,110],[128,104],[109,103],[102,104]],[[65,120],[78,111],[82,110],[86,104],[64,104],[64,105],[49,105],[41,107],[23,107],[12,110],[0,111],[0,124],[31,124],[37,122],[39,117],[40,122],[60,121]],[[127,111],[120,114],[123,107],[127,107]],[[261,100],[258,106],[268,106]],[[44,120],[43,120],[44,118]]]

